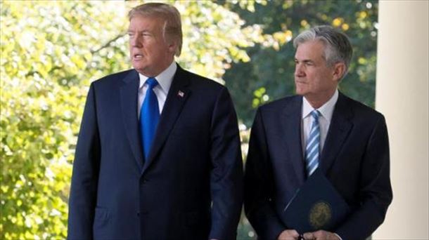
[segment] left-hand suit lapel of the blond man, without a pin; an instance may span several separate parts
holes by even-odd
[[[120,88],[120,101],[122,109],[122,121],[125,132],[131,145],[132,153],[139,167],[143,168],[143,153],[139,133],[139,121],[137,118],[137,99],[139,94],[139,74],[135,70],[124,79],[124,85]]]

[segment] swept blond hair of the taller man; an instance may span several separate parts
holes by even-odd
[[[181,53],[181,45],[183,42],[183,34],[181,33],[180,13],[172,5],[162,3],[149,3],[135,6],[128,13],[128,18],[131,21],[136,15],[148,17],[156,17],[164,20],[162,27],[162,36],[166,40],[166,35],[177,41],[177,48],[174,55],[179,57]]]

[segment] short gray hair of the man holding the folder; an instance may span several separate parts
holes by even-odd
[[[332,67],[337,62],[344,62],[345,73],[342,75],[344,77],[353,55],[352,44],[347,35],[327,25],[316,26],[300,33],[293,40],[293,46],[297,48],[300,44],[314,40],[321,41],[325,45],[324,58],[328,66]]]

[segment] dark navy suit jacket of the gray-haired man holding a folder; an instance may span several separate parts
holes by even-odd
[[[302,96],[260,107],[245,167],[245,213],[260,239],[277,239],[280,220],[305,182],[301,144]],[[336,229],[342,239],[365,239],[383,222],[392,201],[388,131],[382,114],[341,93],[319,168],[352,207]]]

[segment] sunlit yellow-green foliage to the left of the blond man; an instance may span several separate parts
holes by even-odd
[[[1,239],[65,237],[89,80],[127,67],[111,61],[108,51],[97,51],[120,28],[107,24],[115,6],[103,5],[106,15],[97,10],[101,6],[1,2]],[[97,25],[105,25],[103,38]],[[124,51],[115,51],[117,58],[124,58]]]

